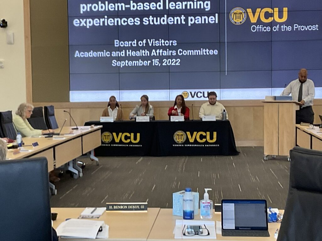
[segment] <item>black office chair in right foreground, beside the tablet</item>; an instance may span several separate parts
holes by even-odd
[[[290,150],[289,193],[277,241],[321,240],[322,152]]]

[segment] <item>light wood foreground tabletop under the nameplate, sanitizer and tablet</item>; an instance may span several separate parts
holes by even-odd
[[[84,208],[52,208],[52,212],[58,213],[57,219],[53,221],[53,228],[57,228],[60,223],[69,218],[78,218]],[[283,212],[283,211],[282,211]],[[106,241],[175,241],[173,230],[175,220],[182,219],[179,216],[172,215],[172,209],[148,208],[147,211],[106,211],[99,219],[109,225],[109,238],[99,239]],[[194,220],[200,220],[196,215]],[[221,221],[221,213],[215,212],[212,221]],[[280,226],[279,223],[269,223],[270,237],[223,237],[216,234],[216,240],[235,240],[235,241],[275,241],[274,233]],[[85,241],[88,239],[61,239],[72,241]],[[197,238],[194,240],[202,240]],[[207,240],[207,239],[203,239]]]

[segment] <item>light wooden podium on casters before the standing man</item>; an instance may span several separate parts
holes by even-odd
[[[271,155],[288,156],[295,147],[295,111],[297,101],[262,101],[264,103],[264,160]]]

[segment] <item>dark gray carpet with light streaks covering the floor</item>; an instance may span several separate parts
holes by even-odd
[[[285,208],[289,188],[287,158],[263,160],[263,147],[238,147],[239,156],[99,157],[84,159],[83,176],[64,174],[56,184],[52,207],[103,207],[106,202],[147,201],[148,207],[171,208],[172,193],[191,187],[203,198],[212,188],[222,199],[266,199]]]

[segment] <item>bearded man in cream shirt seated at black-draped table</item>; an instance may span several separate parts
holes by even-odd
[[[217,94],[212,91],[208,93],[208,102],[201,105],[199,117],[202,119],[204,115],[215,115],[216,120],[221,120],[223,110],[226,110],[225,107],[221,103],[217,102]]]

